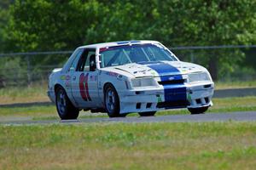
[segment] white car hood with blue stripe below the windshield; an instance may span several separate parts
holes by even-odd
[[[201,65],[195,65],[183,61],[160,61],[131,63],[104,68],[127,77],[163,77],[172,75],[183,75],[191,72],[206,71]]]

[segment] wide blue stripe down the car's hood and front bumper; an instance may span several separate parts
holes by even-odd
[[[160,75],[161,82],[183,79],[181,72],[172,65],[168,65],[163,62],[143,62],[140,64],[147,65],[149,68],[156,71]],[[187,100],[187,90],[184,83],[164,84],[163,87],[166,102]]]

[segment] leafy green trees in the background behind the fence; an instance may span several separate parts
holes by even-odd
[[[3,0],[0,50],[72,50],[131,39],[168,47],[255,44],[255,6],[252,0]],[[217,79],[219,68],[234,69],[245,54],[222,50],[206,57],[201,51],[196,57]]]

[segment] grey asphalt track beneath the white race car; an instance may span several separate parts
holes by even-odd
[[[94,117],[78,120],[45,120],[45,121],[9,121],[0,122],[4,125],[33,125],[33,124],[85,124],[85,123],[139,123],[139,122],[251,122],[256,121],[256,111],[231,113],[207,113],[201,115],[169,115],[169,116],[130,116],[130,117]]]

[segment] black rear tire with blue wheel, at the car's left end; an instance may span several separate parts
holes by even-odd
[[[57,88],[55,91],[55,104],[61,120],[78,118],[79,109],[73,106],[65,90],[61,87]]]

